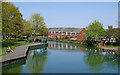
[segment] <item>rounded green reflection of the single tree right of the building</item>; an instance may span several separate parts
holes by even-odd
[[[91,68],[95,71],[98,72],[102,70],[103,65],[102,63],[104,62],[104,56],[99,55],[97,53],[94,53],[93,51],[87,52],[85,56],[86,62]]]

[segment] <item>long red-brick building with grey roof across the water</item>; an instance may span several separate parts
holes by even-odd
[[[85,28],[49,28],[48,38],[86,40]]]

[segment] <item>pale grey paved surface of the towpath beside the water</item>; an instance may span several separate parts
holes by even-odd
[[[34,46],[34,45],[41,45],[41,44],[35,43],[35,44],[31,44],[31,45],[23,45],[23,46],[16,47],[16,49],[14,50],[13,53],[10,53],[10,54],[4,55],[4,56],[0,56],[0,58],[2,58],[2,59],[0,59],[0,62],[25,57],[28,47]]]

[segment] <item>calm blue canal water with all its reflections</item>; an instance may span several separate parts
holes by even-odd
[[[48,42],[33,48],[26,61],[3,67],[3,73],[118,73],[115,52],[68,43]]]

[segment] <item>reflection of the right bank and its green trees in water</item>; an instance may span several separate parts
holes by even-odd
[[[109,64],[109,68],[117,66],[117,56],[115,52],[107,52],[101,49],[87,49],[84,56],[84,61],[90,66],[94,72],[99,72],[104,69],[104,65]]]

